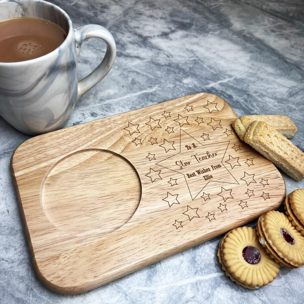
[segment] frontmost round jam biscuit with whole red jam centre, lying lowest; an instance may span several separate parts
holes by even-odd
[[[271,282],[279,271],[279,264],[265,252],[251,227],[238,227],[226,234],[221,260],[238,282],[254,288]]]

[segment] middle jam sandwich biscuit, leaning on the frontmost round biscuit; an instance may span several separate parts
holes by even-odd
[[[260,223],[267,243],[279,257],[295,267],[304,265],[304,236],[284,213],[268,211],[261,216]]]

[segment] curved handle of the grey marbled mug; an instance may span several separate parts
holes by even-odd
[[[80,47],[88,38],[99,38],[106,43],[106,52],[100,64],[87,76],[78,81],[77,100],[91,87],[97,84],[111,69],[116,57],[116,44],[111,33],[103,26],[87,24],[74,29],[76,52],[80,54]]]

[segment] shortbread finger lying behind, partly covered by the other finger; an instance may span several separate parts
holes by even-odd
[[[268,123],[286,138],[292,138],[297,131],[294,122],[286,115],[247,115],[232,122],[232,127],[241,140],[244,140],[245,133],[254,120]]]

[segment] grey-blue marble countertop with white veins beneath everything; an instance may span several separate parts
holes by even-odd
[[[304,2],[302,0],[52,1],[74,26],[98,23],[117,44],[108,75],[76,104],[66,126],[160,101],[209,92],[238,116],[287,114],[304,148]],[[86,41],[79,77],[99,61]],[[220,269],[220,236],[94,290],[60,295],[37,280],[9,171],[14,149],[29,136],[0,117],[1,303],[302,303],[304,267],[280,268],[258,290],[236,285]],[[304,188],[283,174],[287,193]],[[254,223],[249,223],[253,226]]]

